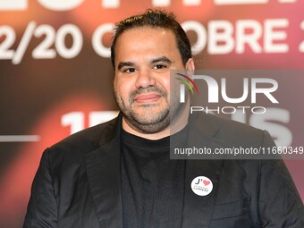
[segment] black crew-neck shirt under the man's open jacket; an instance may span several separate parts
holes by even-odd
[[[185,139],[185,130],[179,134]],[[170,137],[143,139],[122,130],[124,228],[181,227],[184,160],[170,160]]]

